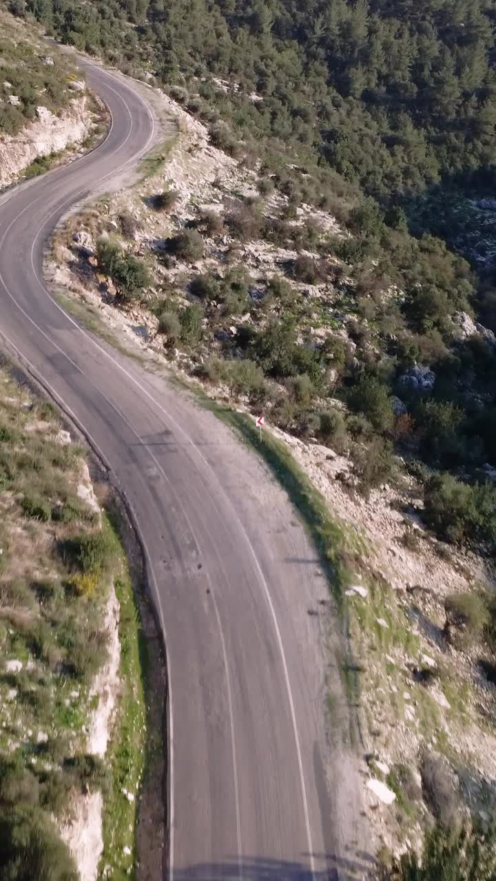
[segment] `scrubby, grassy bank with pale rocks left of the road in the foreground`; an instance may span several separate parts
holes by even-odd
[[[83,450],[61,436],[55,409],[4,371],[0,393],[0,874],[76,881],[58,826],[79,797],[101,790],[101,867],[129,877],[146,743],[132,583],[109,522],[78,496]],[[108,658],[112,586],[121,689],[101,760],[87,752],[87,728]]]

